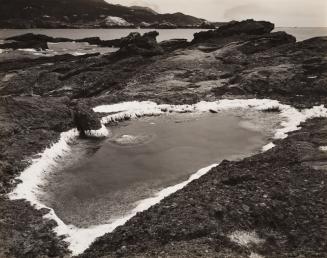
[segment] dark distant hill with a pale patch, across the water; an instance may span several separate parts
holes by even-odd
[[[204,22],[183,13],[158,14],[147,7],[125,7],[104,0],[0,0],[1,28],[173,28],[198,27]]]

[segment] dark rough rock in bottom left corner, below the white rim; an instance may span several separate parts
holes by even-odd
[[[69,257],[67,244],[58,237],[54,221],[43,218],[47,210],[35,210],[23,200],[0,197],[0,257]]]

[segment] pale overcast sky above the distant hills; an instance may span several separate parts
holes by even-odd
[[[148,6],[159,13],[183,12],[209,21],[254,18],[276,26],[327,27],[327,0],[106,0]]]

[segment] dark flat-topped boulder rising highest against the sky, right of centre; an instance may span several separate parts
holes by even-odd
[[[210,38],[230,37],[234,35],[262,35],[270,33],[274,24],[266,21],[245,20],[233,21],[222,25],[216,30],[201,31],[194,34],[193,43],[205,41]]]

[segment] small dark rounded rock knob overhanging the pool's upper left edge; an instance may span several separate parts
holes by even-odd
[[[101,128],[100,119],[87,105],[73,102],[73,118],[80,136],[85,137],[87,131]]]

